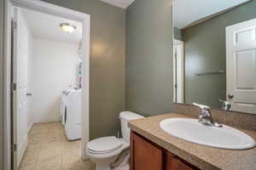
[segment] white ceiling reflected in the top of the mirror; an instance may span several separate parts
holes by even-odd
[[[189,26],[212,14],[235,7],[250,0],[174,0],[173,24],[177,28]]]

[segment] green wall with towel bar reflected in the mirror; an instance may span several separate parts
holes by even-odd
[[[195,76],[197,71],[225,69],[225,27],[256,18],[256,0],[183,30],[185,100],[219,107],[225,99],[225,76]]]

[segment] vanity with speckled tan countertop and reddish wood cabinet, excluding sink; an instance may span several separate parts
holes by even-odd
[[[219,149],[179,139],[160,128],[161,121],[177,117],[191,118],[172,113],[129,122],[131,170],[256,169],[255,147],[249,150]],[[239,130],[256,139],[255,131]]]

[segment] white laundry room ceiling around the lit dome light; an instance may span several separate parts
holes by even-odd
[[[78,43],[82,39],[82,23],[56,17],[54,15],[22,9],[34,37],[58,42]],[[72,33],[61,30],[61,23],[70,23],[77,27]]]

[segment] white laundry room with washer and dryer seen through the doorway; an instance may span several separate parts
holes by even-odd
[[[82,23],[25,8],[15,8],[14,17],[15,68],[26,92],[17,110],[17,164],[80,157]]]

